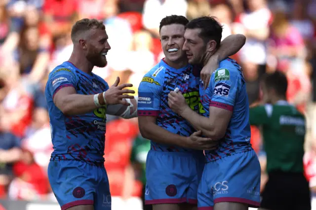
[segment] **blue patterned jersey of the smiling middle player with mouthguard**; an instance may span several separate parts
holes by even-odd
[[[167,131],[188,137],[196,130],[183,117],[174,113],[168,106],[168,94],[178,87],[187,104],[196,112],[204,110],[199,99],[200,70],[187,65],[174,69],[161,60],[145,74],[138,88],[138,116],[157,116],[157,125]],[[159,144],[151,141],[151,148],[169,152],[192,152],[175,145]],[[201,151],[197,151],[201,152]]]

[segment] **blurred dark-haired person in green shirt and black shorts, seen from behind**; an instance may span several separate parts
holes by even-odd
[[[304,176],[305,117],[286,101],[287,78],[276,71],[261,82],[264,105],[250,108],[250,124],[261,126],[267,154],[268,181],[262,193],[264,210],[311,210]]]

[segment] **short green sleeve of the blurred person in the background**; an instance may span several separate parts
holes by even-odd
[[[249,123],[250,125],[260,126],[268,125],[272,115],[272,105],[259,105],[249,108]]]

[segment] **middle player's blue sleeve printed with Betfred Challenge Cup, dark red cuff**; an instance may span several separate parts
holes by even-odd
[[[162,73],[156,77],[151,71],[145,74],[138,87],[138,116],[158,116],[160,93],[162,90]]]

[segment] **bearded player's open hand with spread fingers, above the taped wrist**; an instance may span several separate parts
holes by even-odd
[[[117,104],[122,104],[122,105],[130,105],[128,102],[126,102],[123,99],[133,99],[134,96],[127,95],[128,93],[134,94],[135,91],[133,90],[128,90],[124,89],[126,87],[133,87],[132,84],[121,84],[118,85],[119,83],[119,77],[117,77],[117,80],[114,82],[114,84],[107,90],[105,91],[104,98],[107,101],[108,105],[117,105]]]

